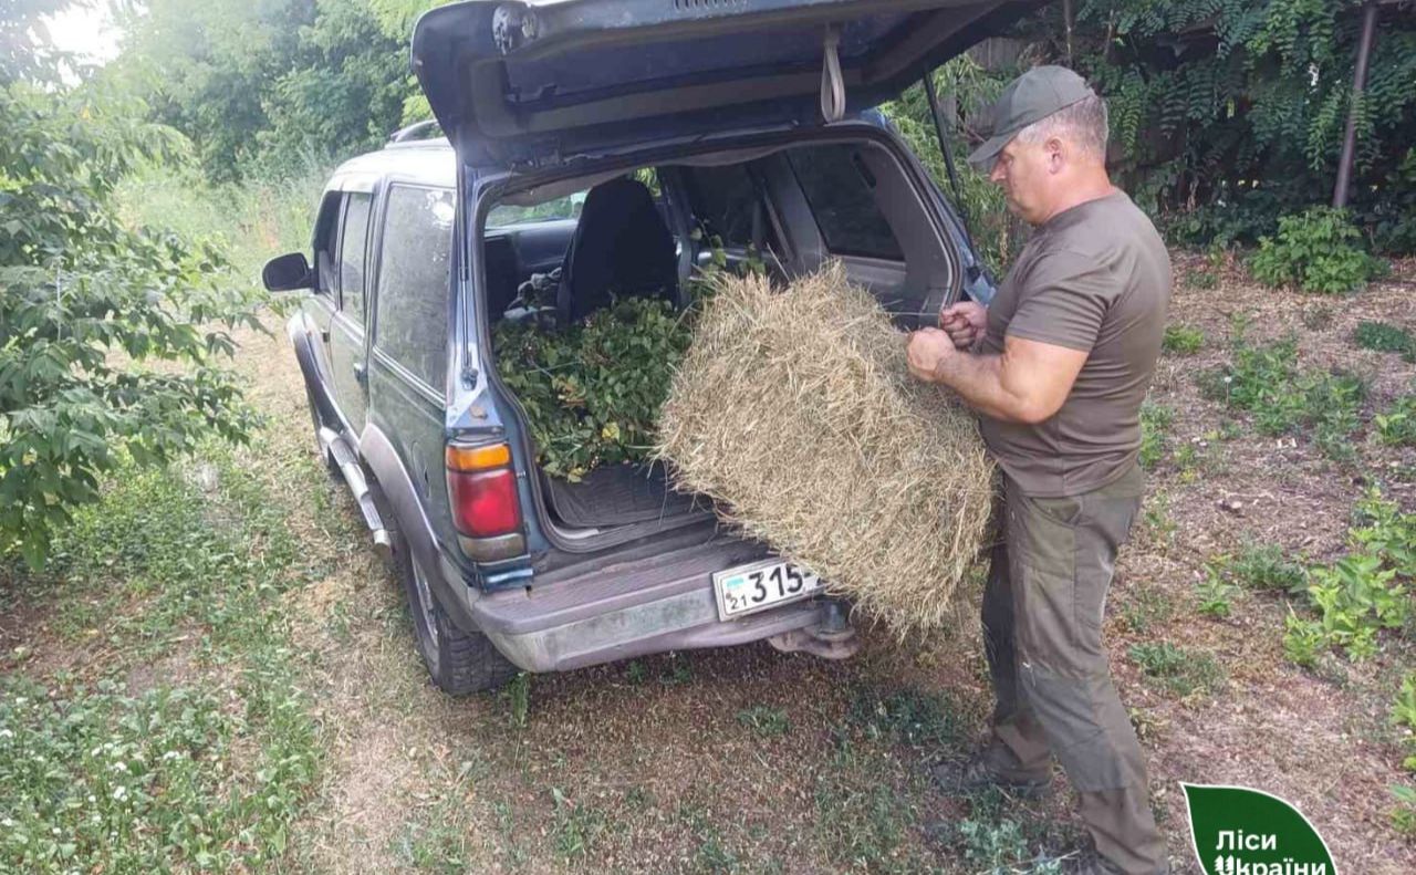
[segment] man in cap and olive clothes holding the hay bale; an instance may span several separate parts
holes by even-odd
[[[987,309],[953,304],[940,328],[910,336],[909,367],[983,415],[1004,471],[983,599],[993,740],[936,777],[1035,794],[1055,753],[1095,844],[1080,871],[1154,875],[1165,841],[1102,612],[1141,504],[1140,405],[1171,273],[1154,225],[1107,177],[1106,133],[1106,103],[1069,69],[1034,68],[1003,92],[994,136],[969,160],[1037,231]]]

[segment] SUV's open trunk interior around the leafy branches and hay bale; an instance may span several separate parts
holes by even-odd
[[[683,309],[691,278],[714,263],[755,263],[789,282],[828,259],[902,328],[933,324],[959,287],[957,253],[926,205],[923,174],[877,127],[858,127],[504,194],[483,232],[491,336],[504,321],[556,331],[626,297]],[[600,464],[572,480],[538,464],[544,518],[566,544],[680,528],[712,511],[675,491],[661,464]]]

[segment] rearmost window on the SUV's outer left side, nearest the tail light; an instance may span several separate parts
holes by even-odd
[[[443,391],[453,194],[392,185],[378,262],[375,344],[419,379]]]

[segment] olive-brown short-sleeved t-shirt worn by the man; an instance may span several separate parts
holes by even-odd
[[[1059,212],[1024,246],[988,304],[983,351],[1012,336],[1089,353],[1051,419],[983,418],[984,442],[1024,494],[1076,496],[1130,469],[1170,286],[1160,234],[1120,191]]]

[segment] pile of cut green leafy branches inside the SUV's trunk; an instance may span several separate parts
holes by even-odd
[[[596,466],[649,457],[690,340],[684,314],[647,297],[617,300],[565,330],[534,320],[493,327],[497,372],[527,413],[538,464],[572,483]]]

